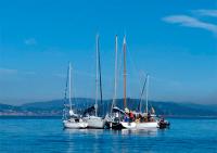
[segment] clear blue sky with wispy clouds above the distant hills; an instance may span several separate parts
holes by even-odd
[[[123,97],[123,38],[127,38],[127,97],[217,103],[215,0],[0,1],[0,103],[62,99],[68,62],[73,97],[95,95],[95,35],[100,36],[103,98],[114,94],[115,35]]]

